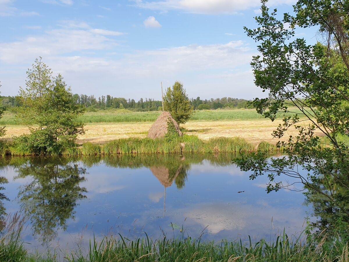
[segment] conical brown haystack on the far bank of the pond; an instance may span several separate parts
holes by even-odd
[[[161,115],[156,119],[155,123],[151,126],[148,132],[149,138],[161,138],[167,133],[168,122],[171,121],[174,125],[174,129],[179,136],[182,136],[182,132],[179,130],[179,125],[173,119],[170,112],[162,112]]]

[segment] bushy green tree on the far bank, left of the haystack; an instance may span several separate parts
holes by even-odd
[[[22,106],[16,117],[28,125],[30,134],[17,137],[16,144],[25,152],[60,153],[84,133],[84,124],[76,121],[84,108],[76,103],[60,74],[52,77],[41,57],[28,70],[26,86],[20,88]]]

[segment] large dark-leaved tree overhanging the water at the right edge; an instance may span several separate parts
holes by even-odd
[[[263,154],[252,154],[236,162],[242,170],[253,171],[251,179],[267,175],[268,192],[287,187],[278,177],[288,175],[348,217],[347,205],[339,204],[348,194],[335,189],[335,184],[346,192],[349,189],[348,1],[299,0],[295,15],[285,13],[282,20],[265,3],[262,1],[261,16],[256,17],[258,28],[245,28],[248,36],[260,42],[261,56],[251,62],[255,84],[269,93],[268,98],[257,98],[252,104],[272,121],[277,114],[298,108],[301,113],[283,118],[273,136],[280,139],[291,127],[298,135],[277,144],[287,156],[265,159]],[[296,26],[315,26],[326,40],[306,44],[303,38],[295,38]],[[305,125],[305,119],[310,124]]]

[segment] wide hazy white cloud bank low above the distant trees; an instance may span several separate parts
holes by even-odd
[[[68,20],[61,21],[60,28],[41,35],[0,43],[4,94],[13,95],[11,90],[24,84],[25,69],[38,56],[55,73],[61,73],[77,93],[114,94],[115,79],[118,79],[119,96],[129,96],[129,89],[122,86],[133,86],[142,87],[137,89],[139,97],[156,98],[154,83],[162,81],[164,86],[170,86],[180,79],[190,97],[199,92],[203,97],[225,96],[231,90],[235,96],[248,99],[259,94],[249,65],[257,53],[243,41],[125,53],[114,35],[119,32]],[[96,90],[96,85],[101,88]]]

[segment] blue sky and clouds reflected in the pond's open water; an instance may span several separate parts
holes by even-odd
[[[193,164],[184,188],[177,189],[174,182],[166,188],[165,217],[164,187],[148,168],[111,168],[101,163],[88,168],[87,173],[86,181],[80,184],[87,188],[87,198],[79,201],[75,220],[69,220],[66,232],[58,231],[54,245],[59,242],[63,248],[69,247],[79,242],[82,232],[91,236],[92,231],[98,237],[111,232],[141,236],[144,231],[156,238],[161,228],[173,235],[171,223],[183,225],[192,237],[198,237],[207,227],[204,239],[248,235],[269,239],[283,228],[289,234],[302,231],[306,217],[300,192],[280,190],[267,194],[261,187],[266,178],[250,181],[249,173],[234,165],[210,166],[208,161]],[[9,180],[4,193],[10,201],[5,206],[7,213],[14,213],[19,209],[18,187],[30,179],[14,181],[12,169],[2,170],[0,175]],[[25,233],[26,241],[38,245],[30,226]],[[178,233],[175,229],[174,234]]]

